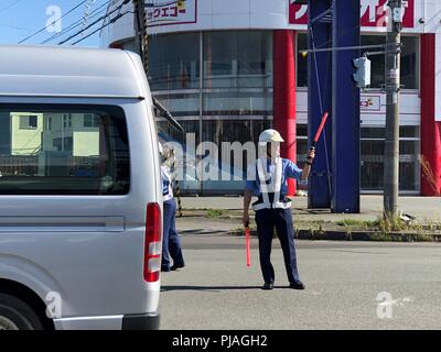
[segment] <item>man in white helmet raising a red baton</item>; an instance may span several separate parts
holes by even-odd
[[[283,251],[289,287],[304,289],[305,286],[300,280],[297,268],[294,229],[291,201],[287,198],[287,179],[308,179],[315,153],[313,150],[308,153],[308,162],[302,170],[290,160],[280,157],[281,142],[283,139],[276,130],[266,130],[259,136],[259,158],[248,166],[247,172],[243,222],[248,227],[248,208],[251,197],[257,196],[258,200],[252,204],[252,209],[256,211],[260,268],[265,280],[262,289],[272,289],[275,284],[275,270],[270,261],[275,227]]]

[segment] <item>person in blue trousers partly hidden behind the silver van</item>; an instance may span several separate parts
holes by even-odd
[[[184,267],[184,256],[182,254],[181,241],[176,231],[176,201],[173,198],[173,179],[171,163],[172,151],[162,147],[160,143],[161,154],[161,178],[163,195],[163,235],[162,235],[162,262],[161,271],[170,272]],[[170,263],[170,256],[173,265]]]

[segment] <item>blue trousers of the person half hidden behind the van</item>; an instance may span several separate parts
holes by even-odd
[[[170,270],[170,256],[173,264],[176,266],[184,265],[184,257],[181,250],[181,241],[176,232],[176,201],[170,199],[164,201],[164,221],[163,221],[163,237],[162,237],[162,264],[163,271]]]

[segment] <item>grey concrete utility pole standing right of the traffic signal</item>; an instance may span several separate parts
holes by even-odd
[[[399,184],[399,92],[402,29],[402,1],[389,0],[391,10],[386,41],[386,141],[384,174],[384,216],[397,217]]]

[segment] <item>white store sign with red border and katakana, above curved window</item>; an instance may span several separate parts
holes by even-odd
[[[197,0],[146,0],[149,26],[197,22]]]

